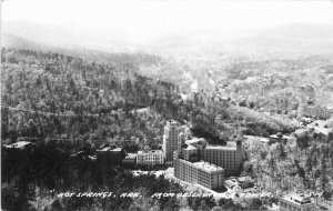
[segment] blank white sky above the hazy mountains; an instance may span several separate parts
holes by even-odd
[[[249,32],[291,23],[333,24],[332,1],[7,0],[3,21],[83,31],[91,39],[122,37],[147,43],[165,34]],[[114,36],[114,34],[118,34]]]

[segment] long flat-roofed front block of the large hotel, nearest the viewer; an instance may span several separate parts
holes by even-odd
[[[174,177],[209,189],[219,189],[223,187],[224,170],[204,161],[190,162],[178,159],[174,167]]]

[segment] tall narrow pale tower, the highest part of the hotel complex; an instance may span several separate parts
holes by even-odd
[[[175,121],[168,121],[164,127],[163,134],[163,154],[165,162],[170,163],[173,160],[173,152],[178,149],[179,124]]]

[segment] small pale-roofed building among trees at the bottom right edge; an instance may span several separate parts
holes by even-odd
[[[280,199],[280,211],[314,211],[315,203],[305,194],[287,194]]]

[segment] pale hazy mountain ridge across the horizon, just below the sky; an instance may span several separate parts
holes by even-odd
[[[26,21],[3,22],[4,34],[29,42],[69,50],[102,52],[149,52],[172,58],[205,58],[219,54],[260,57],[333,54],[333,24],[293,23],[259,30],[192,30],[157,33],[144,42],[121,29],[107,33]],[[2,42],[7,44],[6,41]]]

